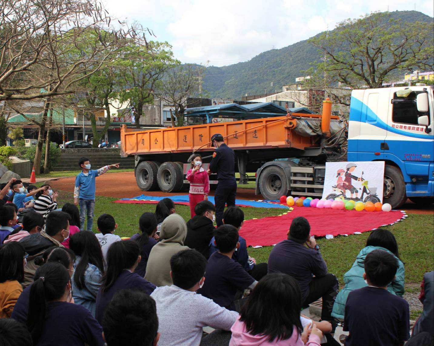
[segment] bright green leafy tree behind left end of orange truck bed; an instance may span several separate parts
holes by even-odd
[[[179,61],[173,58],[168,42],[150,41],[145,46],[128,47],[119,63],[126,88],[118,92],[120,102],[128,102],[135,115],[135,125],[140,127],[143,106],[154,100],[164,73]]]

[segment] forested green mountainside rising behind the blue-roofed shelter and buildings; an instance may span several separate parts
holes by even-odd
[[[395,11],[391,16],[403,22],[433,23],[432,17],[418,11]],[[247,62],[207,67],[203,87],[211,97],[220,98],[239,99],[246,93],[271,93],[275,89],[282,90],[283,85],[294,84],[295,78],[302,75],[301,71],[309,69],[309,64],[319,58],[318,49],[304,40],[260,53]],[[273,87],[270,87],[270,82],[273,82]]]

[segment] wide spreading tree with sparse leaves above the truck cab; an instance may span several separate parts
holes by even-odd
[[[396,71],[432,69],[432,30],[432,24],[402,22],[377,12],[344,20],[309,42],[325,54],[316,68],[328,85],[380,88]]]

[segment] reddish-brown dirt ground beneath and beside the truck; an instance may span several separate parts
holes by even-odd
[[[54,189],[74,192],[75,176],[51,180],[50,184]],[[142,194],[148,196],[174,196],[182,193],[163,193],[161,191],[142,191],[138,188],[134,172],[110,173],[104,174],[96,179],[96,194],[98,196],[107,196],[114,198],[132,198]],[[214,196],[214,191],[210,192]],[[255,195],[254,189],[238,189],[238,199],[262,199],[261,195]],[[410,214],[434,215],[433,205],[418,207],[410,200],[401,208]]]

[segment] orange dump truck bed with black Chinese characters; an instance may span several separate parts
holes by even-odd
[[[321,118],[317,114],[297,114],[302,118]],[[332,117],[337,119],[338,117]],[[222,134],[233,150],[292,147],[303,150],[312,146],[312,137],[302,137],[295,131],[294,119],[286,117],[263,118],[217,124],[172,127],[135,131],[122,126],[123,155],[181,153],[212,150],[209,143],[213,134]]]

